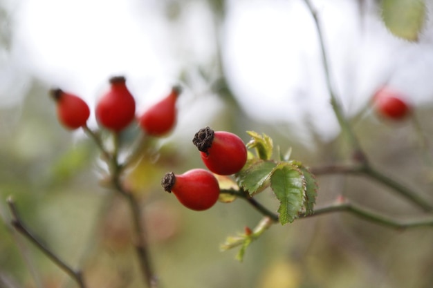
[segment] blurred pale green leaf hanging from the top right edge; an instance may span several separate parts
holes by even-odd
[[[418,41],[426,21],[425,0],[382,0],[385,26],[396,37]]]

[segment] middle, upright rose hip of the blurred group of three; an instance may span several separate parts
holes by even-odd
[[[96,105],[98,123],[111,131],[120,132],[126,128],[136,113],[136,102],[126,86],[125,77],[112,77],[110,88]]]

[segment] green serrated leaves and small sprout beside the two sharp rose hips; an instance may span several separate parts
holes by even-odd
[[[317,182],[314,175],[301,162],[290,160],[290,148],[285,155],[282,155],[277,147],[278,160],[272,160],[270,158],[273,155],[273,140],[268,135],[259,135],[254,131],[248,131],[248,135],[252,140],[247,146],[255,148],[256,156],[250,154],[246,165],[236,174],[237,186],[242,191],[248,192],[247,196],[243,195],[243,197],[253,197],[256,193],[270,187],[279,200],[277,212],[280,224],[293,222],[302,212],[305,212],[305,215],[312,214],[317,195]],[[223,185],[224,188],[229,188],[226,186]],[[239,192],[239,189],[235,190]],[[221,249],[240,247],[236,258],[242,261],[250,244],[277,221],[275,215],[270,216],[270,214],[272,213],[268,213],[257,224],[252,233],[239,233],[237,236],[228,237],[221,245]]]

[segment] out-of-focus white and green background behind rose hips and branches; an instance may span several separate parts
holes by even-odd
[[[385,1],[385,0],[384,0]],[[422,3],[422,1],[420,1]],[[313,1],[333,86],[372,164],[433,202],[423,137],[433,133],[433,28],[399,39],[381,21],[380,1]],[[427,15],[432,1],[426,1]],[[261,215],[245,202],[209,211],[181,207],[160,178],[203,167],[191,140],[203,126],[266,133],[307,166],[345,162],[350,148],[333,114],[313,18],[300,0],[0,0],[0,287],[74,287],[13,233],[6,198],[59,256],[82,267],[89,287],[140,287],[129,211],[100,186],[98,150],[57,122],[48,89],[93,108],[113,75],[125,75],[144,111],[173,84],[178,126],[158,140],[129,181],[141,200],[161,287],[431,287],[433,229],[396,231],[348,213],[271,227],[242,263],[219,251]],[[369,108],[387,84],[414,106],[390,122]],[[91,128],[96,128],[91,115]],[[125,137],[138,132],[134,127]],[[416,207],[364,177],[317,177],[317,205],[338,195],[396,219]],[[271,193],[259,200],[277,209]]]

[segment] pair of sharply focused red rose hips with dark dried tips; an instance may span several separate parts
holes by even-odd
[[[200,129],[192,140],[210,171],[192,169],[181,175],[166,173],[161,184],[173,192],[185,207],[202,211],[214,206],[219,198],[219,182],[213,173],[232,175],[246,164],[247,150],[240,137],[225,131]]]

